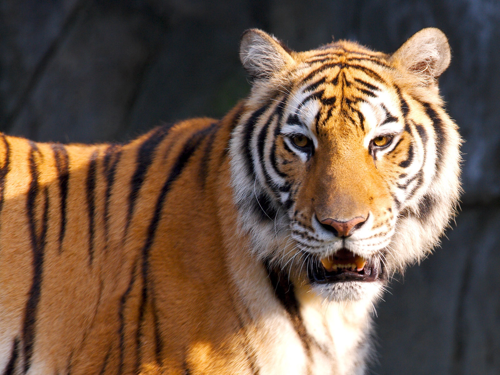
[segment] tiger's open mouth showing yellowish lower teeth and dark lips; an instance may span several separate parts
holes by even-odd
[[[311,282],[375,281],[381,269],[374,261],[355,255],[347,249],[321,259],[312,259],[307,268]]]

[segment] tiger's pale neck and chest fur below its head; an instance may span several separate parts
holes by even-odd
[[[220,177],[228,181],[228,175]],[[260,373],[364,373],[371,301],[326,301],[257,259],[249,234],[239,230],[231,187],[222,186],[219,206],[233,212],[220,216],[227,268],[241,302],[238,314],[245,323],[247,350]]]

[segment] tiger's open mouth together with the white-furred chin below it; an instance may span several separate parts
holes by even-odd
[[[346,249],[328,257],[312,258],[307,267],[312,290],[336,302],[377,298],[383,290],[386,274],[378,259],[366,259]]]

